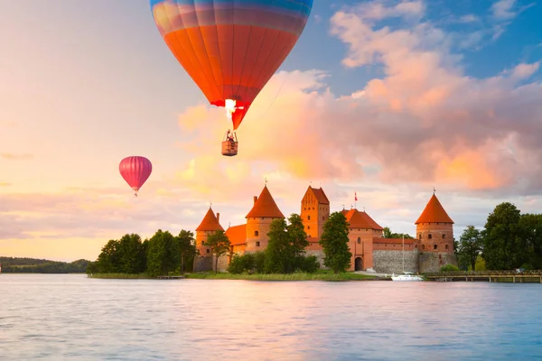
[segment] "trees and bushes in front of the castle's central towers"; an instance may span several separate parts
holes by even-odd
[[[323,226],[320,239],[323,264],[334,273],[350,268],[351,253],[348,247],[348,222],[341,212],[333,212]],[[292,214],[285,219],[275,219],[267,234],[269,243],[265,251],[254,254],[234,255],[229,273],[315,273],[320,263],[314,255],[305,255],[309,245],[302,218]],[[216,272],[216,268],[215,268]]]

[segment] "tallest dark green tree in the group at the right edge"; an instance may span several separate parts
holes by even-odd
[[[521,265],[519,218],[515,205],[503,202],[493,209],[485,224],[483,258],[490,270],[510,270]]]

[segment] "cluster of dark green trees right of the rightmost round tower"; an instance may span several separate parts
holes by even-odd
[[[514,204],[500,203],[482,229],[463,231],[455,253],[462,270],[542,269],[542,214],[521,214]]]

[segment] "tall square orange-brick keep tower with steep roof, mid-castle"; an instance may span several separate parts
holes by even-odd
[[[304,231],[309,238],[320,238],[323,232],[323,224],[330,218],[330,200],[320,189],[309,186],[301,199],[301,218],[303,219]]]

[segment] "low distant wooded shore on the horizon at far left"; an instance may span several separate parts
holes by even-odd
[[[0,257],[3,273],[85,273],[89,261],[57,262],[35,258]]]

